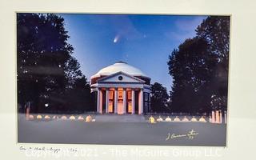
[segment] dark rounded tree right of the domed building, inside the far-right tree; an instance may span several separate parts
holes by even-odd
[[[206,92],[215,65],[214,54],[207,52],[207,48],[208,43],[203,38],[187,39],[170,56],[168,65],[174,78],[171,107],[174,112],[206,111],[210,98]]]

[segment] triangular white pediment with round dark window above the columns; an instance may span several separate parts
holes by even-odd
[[[134,76],[131,76],[130,74],[125,74],[123,72],[118,72],[115,74],[111,74],[105,78],[101,78],[98,80],[98,83],[102,82],[132,82],[132,83],[144,83],[140,78],[136,78]]]

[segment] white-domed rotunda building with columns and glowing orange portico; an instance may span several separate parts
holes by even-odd
[[[90,77],[99,114],[143,114],[150,111],[150,78],[126,62],[116,62]]]

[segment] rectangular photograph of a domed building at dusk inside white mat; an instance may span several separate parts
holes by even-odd
[[[230,15],[16,16],[18,142],[226,146]]]

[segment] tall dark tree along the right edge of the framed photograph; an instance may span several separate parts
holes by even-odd
[[[230,17],[210,16],[198,26],[197,35],[205,38],[210,44],[210,52],[217,56],[214,80],[211,82],[211,106],[215,109],[226,110],[229,52],[230,52]]]

